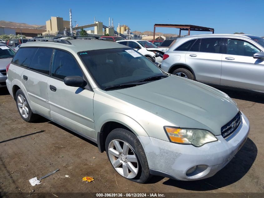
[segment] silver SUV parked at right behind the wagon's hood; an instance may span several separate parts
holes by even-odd
[[[264,39],[242,34],[186,36],[164,54],[161,68],[206,84],[264,93]]]

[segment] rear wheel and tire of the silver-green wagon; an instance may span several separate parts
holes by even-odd
[[[33,122],[37,120],[40,116],[38,114],[33,114],[32,110],[27,102],[26,96],[21,89],[16,92],[16,104],[17,110],[21,118],[26,122]]]

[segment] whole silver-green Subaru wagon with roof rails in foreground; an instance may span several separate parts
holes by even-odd
[[[151,175],[210,177],[249,133],[247,117],[227,94],[168,75],[114,42],[27,42],[7,67],[6,82],[23,120],[41,115],[96,142],[120,175],[139,183]]]

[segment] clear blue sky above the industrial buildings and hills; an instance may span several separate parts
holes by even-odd
[[[12,4],[12,5],[11,5]],[[22,4],[22,5],[21,5]],[[11,6],[11,7],[10,7]],[[44,25],[51,16],[72,20],[79,25],[93,23],[93,17],[108,25],[114,18],[114,26],[126,24],[131,31],[153,31],[154,23],[192,24],[215,28],[215,33],[244,32],[264,36],[264,2],[255,0],[131,0],[131,1],[1,1],[0,20]],[[12,9],[9,9],[12,8]],[[13,11],[18,12],[13,12]],[[74,22],[73,22],[74,25]],[[116,28],[115,28],[116,29]],[[156,28],[156,32],[175,33],[175,28]],[[199,34],[204,32],[191,32]],[[187,34],[183,31],[182,34]]]

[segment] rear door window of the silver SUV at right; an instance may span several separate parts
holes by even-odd
[[[219,53],[221,38],[202,38],[200,52]]]

